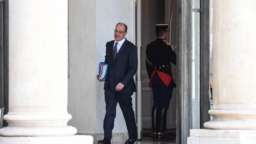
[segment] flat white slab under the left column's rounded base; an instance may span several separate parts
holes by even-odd
[[[0,137],[1,144],[92,144],[92,136],[56,136],[56,137]]]

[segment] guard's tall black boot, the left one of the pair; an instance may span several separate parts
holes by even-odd
[[[157,139],[159,132],[159,108],[152,107],[152,137],[153,139]]]

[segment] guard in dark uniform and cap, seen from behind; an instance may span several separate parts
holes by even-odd
[[[153,138],[165,136],[167,110],[176,87],[171,63],[176,65],[176,53],[172,44],[167,42],[168,24],[156,24],[156,40],[146,47],[146,70],[153,91],[152,130]]]

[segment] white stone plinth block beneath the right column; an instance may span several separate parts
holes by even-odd
[[[256,143],[256,130],[191,129],[188,144],[248,144]]]

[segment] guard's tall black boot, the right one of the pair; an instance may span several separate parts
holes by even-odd
[[[159,133],[158,138],[165,137],[165,130],[167,129],[167,110],[168,108],[161,107],[159,110]]]

